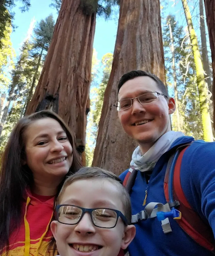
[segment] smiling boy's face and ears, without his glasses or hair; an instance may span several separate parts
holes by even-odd
[[[119,189],[105,179],[75,181],[66,188],[59,204],[110,208],[124,214]],[[135,236],[135,227],[125,226],[120,217],[114,228],[103,229],[94,226],[88,212],[75,225],[54,220],[51,230],[61,256],[117,256],[120,248],[127,248]]]

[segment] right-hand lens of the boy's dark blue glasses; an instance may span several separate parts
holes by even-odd
[[[95,226],[112,228],[117,222],[117,213],[110,209],[95,209],[92,212],[92,219]]]

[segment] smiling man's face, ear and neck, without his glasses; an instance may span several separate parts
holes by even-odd
[[[134,98],[147,92],[162,93],[156,82],[150,77],[137,77],[125,82],[120,88],[118,100]],[[169,114],[174,113],[174,99],[159,95],[157,101],[141,105],[133,100],[131,108],[118,112],[125,132],[140,145],[144,154],[161,137],[170,130]]]

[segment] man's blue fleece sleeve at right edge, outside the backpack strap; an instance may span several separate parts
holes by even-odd
[[[181,183],[189,203],[215,236],[215,142],[193,143],[184,158]]]

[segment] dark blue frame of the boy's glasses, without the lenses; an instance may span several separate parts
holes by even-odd
[[[74,224],[71,224],[71,223],[70,223],[70,224],[67,224],[67,223],[60,222],[60,221],[59,221],[58,211],[59,211],[59,209],[60,209],[61,206],[74,206],[74,207],[78,207],[79,209],[81,209],[81,210],[82,210],[82,214],[81,214],[81,217],[80,217],[80,219],[78,220],[78,222],[77,222],[77,223],[74,223]],[[59,223],[62,223],[62,224],[66,224],[66,225],[76,225],[76,224],[78,224],[78,223],[81,221],[81,219],[83,218],[84,214],[85,214],[86,212],[88,212],[89,215],[91,216],[91,220],[92,220],[93,225],[96,226],[96,227],[100,227],[100,226],[97,226],[97,225],[94,224],[94,222],[93,222],[93,217],[92,217],[92,212],[93,212],[94,210],[98,210],[98,209],[107,209],[107,210],[115,211],[115,212],[116,212],[116,215],[117,215],[116,224],[117,224],[117,221],[118,221],[118,219],[119,219],[119,217],[120,217],[120,218],[122,219],[122,222],[124,223],[124,225],[126,225],[126,226],[128,225],[128,220],[127,220],[127,218],[123,215],[123,213],[122,213],[121,211],[118,211],[118,210],[115,210],[115,209],[110,209],[110,208],[105,208],[105,207],[103,207],[103,208],[99,207],[99,208],[87,209],[87,208],[83,208],[83,207],[80,207],[80,206],[77,206],[77,205],[72,205],[72,204],[59,204],[59,205],[57,205],[57,206],[56,206],[56,219],[58,220]],[[116,226],[116,224],[115,224],[113,227],[100,227],[100,228],[101,228],[101,229],[113,229],[113,228]]]

